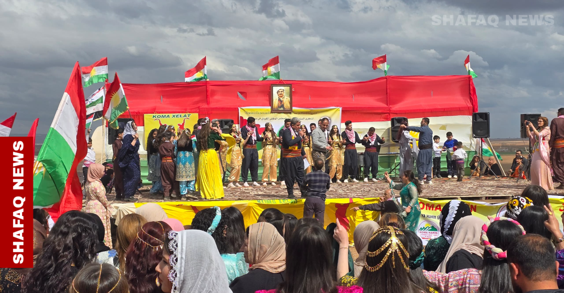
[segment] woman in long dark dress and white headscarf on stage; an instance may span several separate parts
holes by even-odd
[[[134,121],[127,122],[124,138],[117,160],[124,176],[124,197],[126,201],[137,201],[135,191],[141,182],[141,165],[139,162],[139,134]]]

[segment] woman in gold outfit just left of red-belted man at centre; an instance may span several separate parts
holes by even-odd
[[[265,124],[265,132],[262,133],[262,137],[265,140],[262,141],[262,185],[267,185],[268,177],[270,176],[270,182],[272,185],[276,181],[276,167],[278,166],[278,136],[274,129],[272,129],[271,123]]]

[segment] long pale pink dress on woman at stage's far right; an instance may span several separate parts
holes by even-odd
[[[534,144],[532,149],[532,162],[531,170],[531,184],[540,185],[545,190],[553,190],[554,184],[552,182],[552,175],[550,175],[550,128],[544,127],[539,136],[536,136],[533,131],[530,132],[529,137],[531,143]]]

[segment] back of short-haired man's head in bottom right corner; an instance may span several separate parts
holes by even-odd
[[[507,249],[507,262],[515,293],[564,292],[558,289],[558,261],[550,240],[526,234],[515,238]]]

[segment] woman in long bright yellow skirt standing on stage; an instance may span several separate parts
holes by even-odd
[[[219,159],[217,156],[219,145],[216,145],[215,141],[225,139],[221,137],[221,129],[211,127],[208,117],[200,124],[202,129],[198,134],[197,142],[200,158],[198,160],[196,188],[200,191],[202,198],[223,198],[223,183],[221,181],[221,171],[219,170]]]

